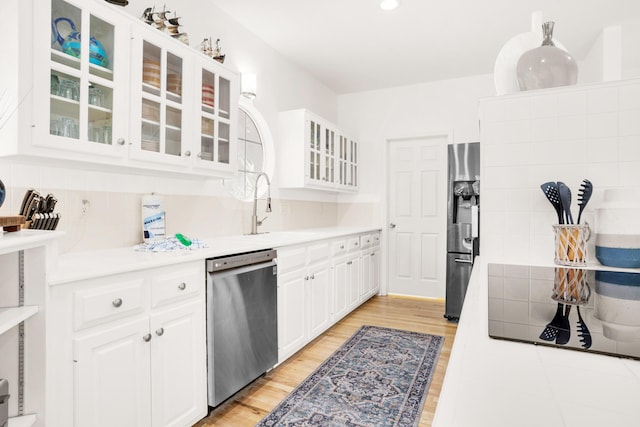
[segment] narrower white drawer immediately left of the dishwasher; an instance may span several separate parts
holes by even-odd
[[[151,278],[151,307],[156,308],[200,294],[205,288],[204,261],[202,266],[172,267],[154,272]]]

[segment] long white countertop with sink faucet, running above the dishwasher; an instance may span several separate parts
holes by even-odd
[[[379,227],[327,227],[295,231],[276,231],[257,235],[233,235],[200,238],[208,247],[176,252],[141,252],[133,247],[60,255],[55,271],[50,272],[50,286],[110,274],[154,268],[171,264],[204,260],[234,253],[279,248],[315,240],[353,234],[366,234]]]

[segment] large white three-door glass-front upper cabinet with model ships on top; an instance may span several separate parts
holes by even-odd
[[[7,1],[0,155],[233,173],[236,72],[104,1]]]

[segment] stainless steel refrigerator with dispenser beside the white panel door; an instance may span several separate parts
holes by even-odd
[[[480,247],[480,143],[449,145],[444,317],[458,321]]]

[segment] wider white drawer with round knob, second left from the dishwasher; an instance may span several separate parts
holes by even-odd
[[[74,330],[144,311],[144,279],[130,279],[73,293]]]

